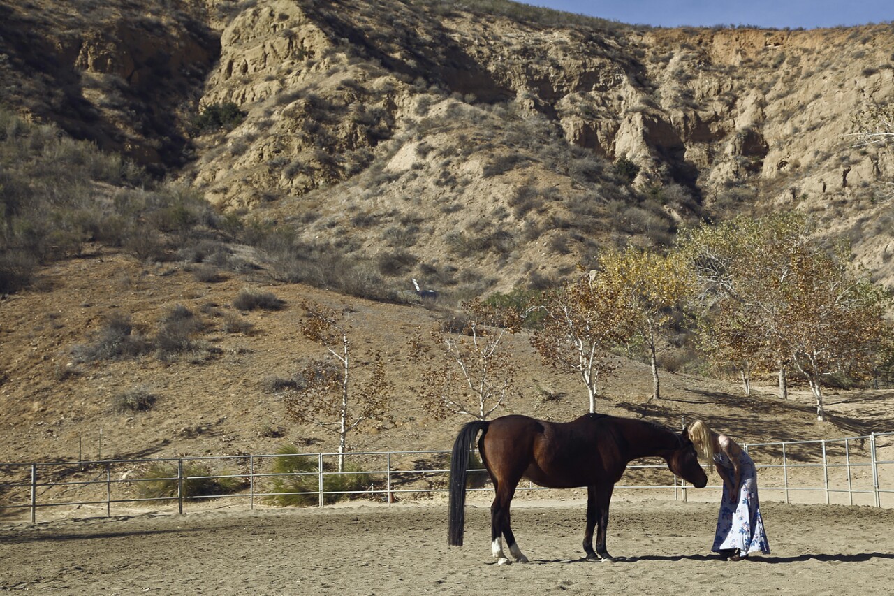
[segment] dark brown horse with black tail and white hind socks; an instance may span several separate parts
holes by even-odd
[[[551,489],[586,486],[584,550],[588,561],[612,560],[605,549],[611,491],[631,460],[661,456],[671,472],[696,488],[701,489],[708,481],[686,431],[679,434],[651,421],[590,413],[570,422],[518,415],[469,422],[460,430],[451,458],[452,546],[462,546],[468,454],[479,431],[483,434],[478,450],[496,491],[491,506],[491,549],[500,565],[509,563],[503,554],[503,536],[510,554],[519,562],[527,562],[512,534],[509,512],[516,486],[523,478]],[[594,551],[593,530],[597,524]]]

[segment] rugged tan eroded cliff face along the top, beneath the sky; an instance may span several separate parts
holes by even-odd
[[[879,184],[894,152],[848,137],[894,96],[890,26],[650,30],[427,0],[152,6],[161,16],[48,23],[6,8],[0,75],[54,64],[30,81],[61,95],[21,91],[33,113],[308,243],[400,256],[389,275],[509,287],[705,217],[801,209],[894,276]],[[222,102],[245,121],[188,145],[196,106]]]

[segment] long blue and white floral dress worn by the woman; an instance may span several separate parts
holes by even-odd
[[[730,478],[735,479],[730,457],[725,453],[714,454],[714,462],[720,465]],[[757,470],[755,462],[744,451],[738,460],[740,485],[737,495],[730,495],[723,483],[721,512],[714,534],[714,552],[739,549],[742,556],[753,552],[770,552],[770,542],[763,530],[763,518],[757,502]]]

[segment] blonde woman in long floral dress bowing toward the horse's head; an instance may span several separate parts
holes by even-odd
[[[703,421],[689,425],[689,438],[698,453],[714,464],[723,480],[721,512],[714,534],[714,552],[738,561],[753,552],[770,552],[757,502],[757,471],[751,457],[736,441],[713,432]]]

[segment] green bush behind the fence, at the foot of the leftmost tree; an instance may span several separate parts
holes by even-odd
[[[301,474],[293,476],[274,476],[270,488],[266,492],[276,493],[267,500],[272,505],[283,507],[314,506],[319,504],[319,464],[316,458],[299,455],[298,447],[285,445],[276,452],[272,473]],[[352,492],[367,490],[372,484],[369,474],[363,473],[357,466],[345,464],[342,473],[333,473],[324,466],[324,492]],[[304,494],[289,494],[304,493]],[[308,494],[309,493],[309,494]],[[355,495],[325,495],[325,503],[337,503]]]

